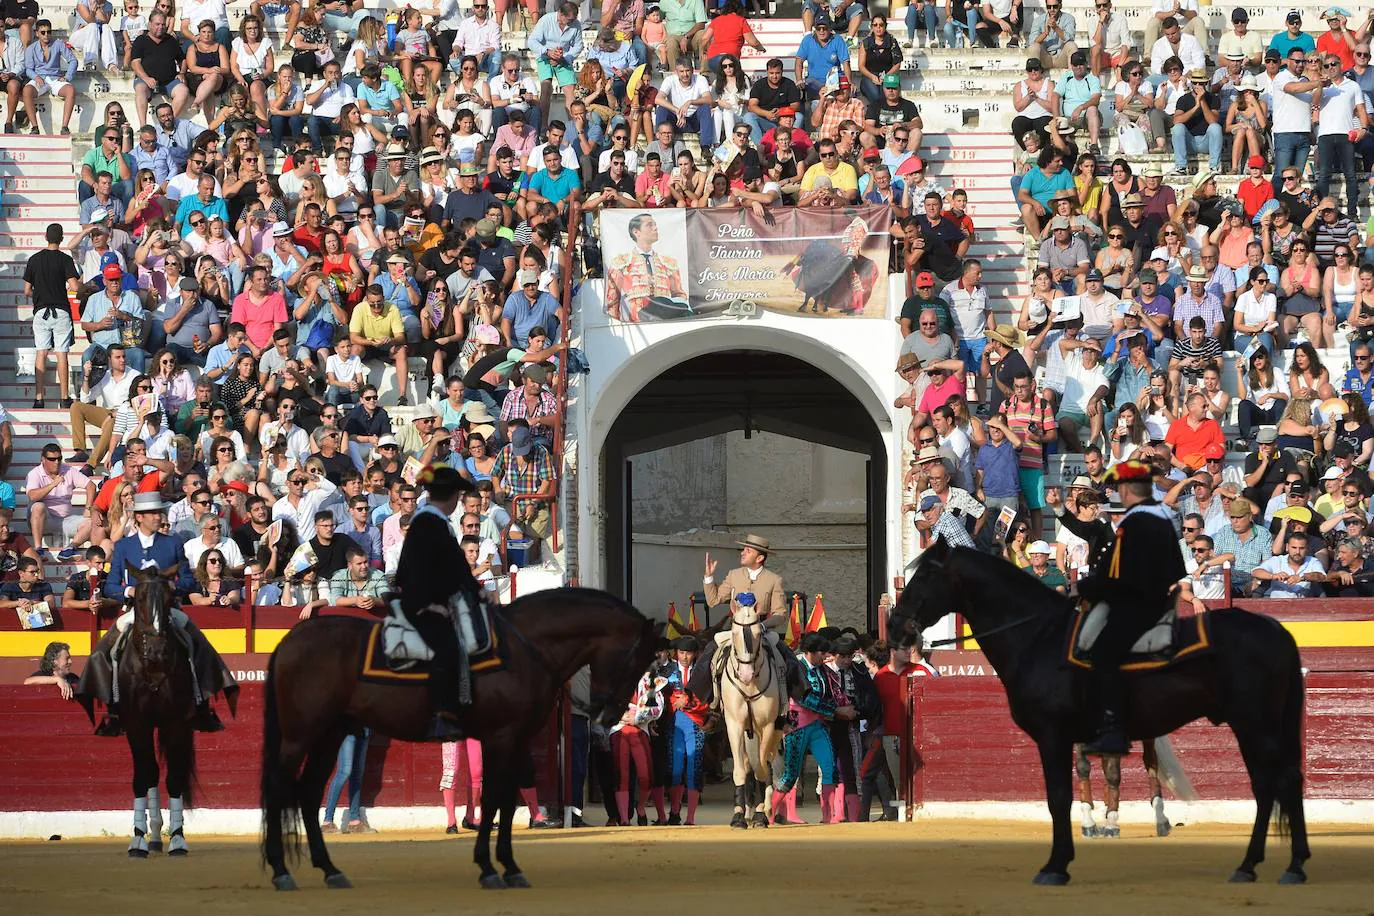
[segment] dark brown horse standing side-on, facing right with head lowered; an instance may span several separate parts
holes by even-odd
[[[528,887],[511,854],[511,818],[517,788],[529,768],[529,743],[547,721],[562,685],[591,666],[594,725],[610,728],[649,667],[662,622],[631,604],[594,589],[536,592],[496,608],[506,666],[473,678],[473,705],[462,726],[482,742],[482,823],[473,860],[481,886]],[[433,710],[425,681],[378,684],[360,680],[371,621],[324,617],[295,626],[282,640],[267,669],[262,728],[262,858],[272,867],[272,886],[295,890],[286,868],[283,832],[298,840],[304,814],[311,864],[330,887],[350,887],[330,861],[316,812],[334,769],[339,744],[363,726],[416,742],[429,729]],[[492,867],[492,821],[500,813]]]

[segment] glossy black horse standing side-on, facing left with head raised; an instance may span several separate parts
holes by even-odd
[[[889,617],[889,633],[915,636],[949,612],[963,614],[1007,691],[1011,718],[1040,748],[1054,818],[1050,861],[1037,884],[1065,884],[1073,861],[1073,744],[1092,737],[1099,707],[1085,672],[1065,659],[1069,603],[1006,560],[941,538],[929,548]],[[1276,621],[1249,611],[1210,611],[1215,651],[1128,681],[1128,733],[1157,737],[1208,718],[1235,733],[1257,806],[1245,860],[1232,882],[1253,882],[1264,861],[1270,814],[1292,831],[1282,884],[1307,880],[1311,857],[1303,816],[1303,669],[1297,643]]]

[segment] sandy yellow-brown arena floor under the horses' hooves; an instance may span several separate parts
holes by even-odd
[[[929,821],[750,829],[588,828],[517,831],[532,890],[482,891],[467,834],[335,836],[335,864],[353,880],[326,890],[308,864],[302,890],[269,890],[257,847],[191,838],[185,860],[131,861],[124,840],[4,845],[0,900],[14,913],[1370,913],[1374,832],[1312,835],[1305,887],[1279,887],[1274,849],[1260,883],[1227,884],[1243,853],[1238,827],[1189,825],[1157,839],[1128,827],[1120,840],[1077,845],[1073,883],[1030,886],[1048,828]],[[1107,895],[1112,895],[1112,900]]]

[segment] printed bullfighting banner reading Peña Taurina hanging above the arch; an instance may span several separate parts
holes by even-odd
[[[606,312],[662,321],[756,309],[886,317],[890,209],[609,210]]]

